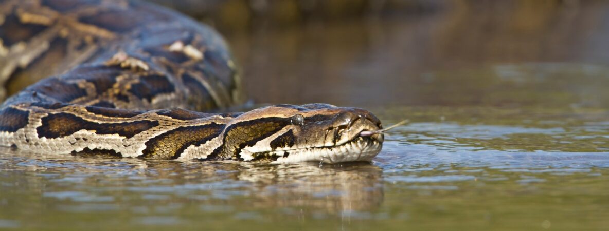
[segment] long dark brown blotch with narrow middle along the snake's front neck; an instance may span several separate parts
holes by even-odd
[[[69,136],[80,130],[95,131],[96,134],[118,134],[131,138],[136,134],[158,126],[157,121],[137,120],[123,123],[96,123],[68,113],[49,114],[43,117],[42,125],[36,128],[38,137],[53,139]]]

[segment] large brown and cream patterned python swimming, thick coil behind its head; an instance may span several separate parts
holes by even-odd
[[[197,112],[242,103],[227,44],[148,2],[0,0],[0,81],[0,146],[26,153],[336,163],[383,141],[358,108]]]

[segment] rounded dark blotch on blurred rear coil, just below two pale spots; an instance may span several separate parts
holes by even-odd
[[[131,92],[138,98],[146,98],[152,102],[152,98],[158,94],[173,93],[175,86],[164,75],[148,75],[139,78],[139,83],[131,85]]]

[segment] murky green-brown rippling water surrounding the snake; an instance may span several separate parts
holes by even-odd
[[[257,102],[412,123],[371,164],[2,150],[0,229],[606,230],[609,7],[535,9],[229,33]]]

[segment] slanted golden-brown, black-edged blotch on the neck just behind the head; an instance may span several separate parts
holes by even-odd
[[[148,140],[143,151],[144,159],[177,159],[191,145],[201,145],[222,132],[224,125],[210,123],[199,126],[183,126],[167,131]]]

